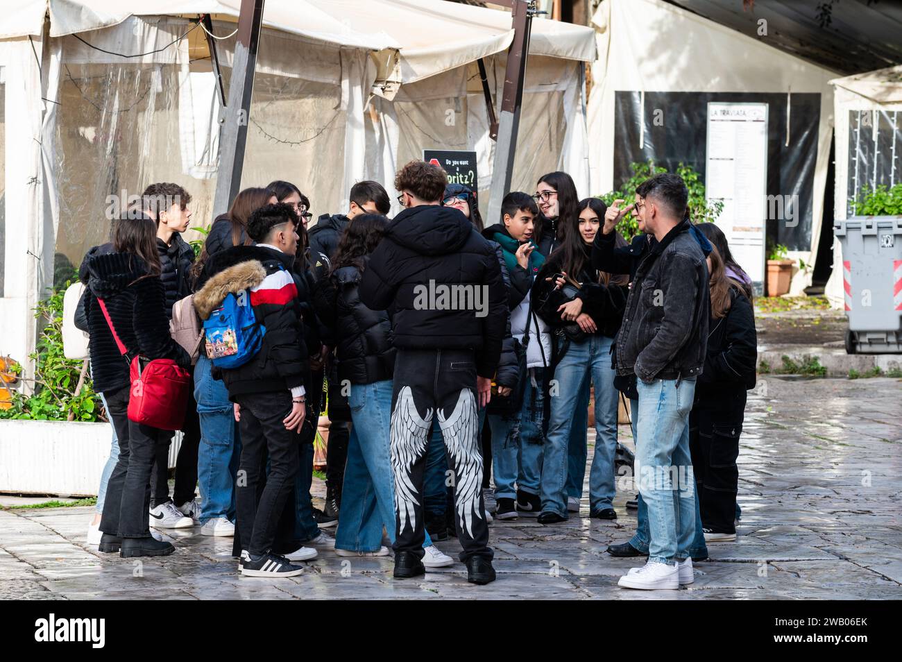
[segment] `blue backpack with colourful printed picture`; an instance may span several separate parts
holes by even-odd
[[[207,358],[217,368],[237,368],[250,361],[263,342],[266,328],[257,322],[251,306],[251,293],[232,292],[214,308],[204,322]]]

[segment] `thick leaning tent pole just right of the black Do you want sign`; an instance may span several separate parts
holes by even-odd
[[[517,134],[520,130],[520,106],[523,103],[523,85],[526,80],[529,30],[532,16],[536,14],[535,3],[532,0],[509,0],[499,4],[511,6],[514,34],[511,49],[508,51],[507,66],[504,69],[504,96],[492,168],[489,213],[486,216],[490,224],[500,219],[502,199],[511,189]]]

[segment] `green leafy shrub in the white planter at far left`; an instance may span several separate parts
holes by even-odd
[[[0,418],[68,420],[70,411],[74,412],[73,420],[100,418],[100,403],[88,375],[81,391],[75,393],[82,362],[67,359],[62,351],[62,299],[70,284],[67,280],[61,288],[51,290],[50,298],[34,308],[34,317],[44,323],[35,352],[30,355],[35,362],[34,392],[24,395],[13,391],[12,407],[0,409]]]

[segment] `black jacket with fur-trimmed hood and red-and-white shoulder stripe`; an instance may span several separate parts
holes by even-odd
[[[226,298],[251,290],[251,305],[266,333],[260,351],[244,365],[222,370],[229,397],[290,390],[309,382],[307,345],[301,328],[294,256],[262,246],[234,246],[211,255],[198,280],[194,307],[201,319]]]

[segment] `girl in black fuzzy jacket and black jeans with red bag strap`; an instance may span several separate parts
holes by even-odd
[[[169,445],[172,433],[135,423],[127,414],[133,356],[170,358],[185,367],[191,363],[169,333],[156,234],[156,221],[148,216],[115,221],[113,253],[90,257],[82,279],[88,292],[94,388],[104,394],[119,442],[119,458],[106,487],[99,549],[121,556],[165,556],[175,550],[151,536],[148,489],[159,447]]]

